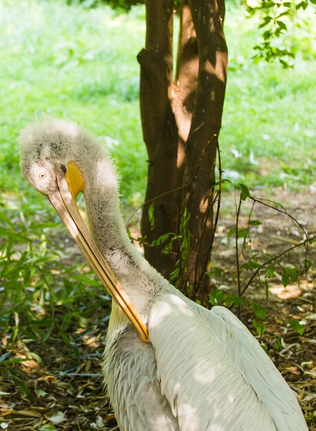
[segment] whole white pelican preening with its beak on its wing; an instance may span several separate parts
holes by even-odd
[[[26,180],[48,197],[112,295],[102,374],[121,431],[308,430],[294,392],[246,326],[226,308],[190,301],[131,244],[117,173],[97,138],[46,118],[23,129],[19,143]]]

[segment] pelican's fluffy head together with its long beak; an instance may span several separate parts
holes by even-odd
[[[75,123],[48,118],[26,127],[19,136],[21,171],[30,185],[47,196],[83,255],[108,288],[110,295],[147,341],[146,327],[134,304],[92,240],[76,204],[79,192],[97,195],[117,193],[115,169],[99,141]],[[97,174],[95,172],[97,171]],[[98,198],[98,195],[95,196]]]

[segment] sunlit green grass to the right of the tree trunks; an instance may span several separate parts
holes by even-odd
[[[253,63],[252,47],[260,40],[256,21],[227,12],[230,70],[222,158],[224,169],[237,171],[250,187],[297,187],[316,180],[316,29],[311,22],[307,31],[302,21],[298,39],[289,32],[297,57],[295,67],[285,70],[275,63]]]

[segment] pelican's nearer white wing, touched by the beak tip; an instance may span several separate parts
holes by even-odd
[[[156,299],[150,311],[161,394],[180,430],[275,431],[268,410],[215,336],[224,321],[212,319],[213,328],[192,302],[172,293]]]

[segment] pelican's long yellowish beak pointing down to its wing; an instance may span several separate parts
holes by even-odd
[[[65,176],[57,173],[57,189],[48,194],[50,203],[59,214],[72,238],[77,242],[79,249],[88,260],[92,269],[97,273],[101,283],[110,293],[111,297],[127,315],[135,326],[144,343],[149,342],[148,330],[141,320],[137,308],[132,303],[124,288],[119,284],[117,277],[101,255],[99,249],[92,240],[91,235],[84,224],[77,209],[77,204],[72,199]]]

